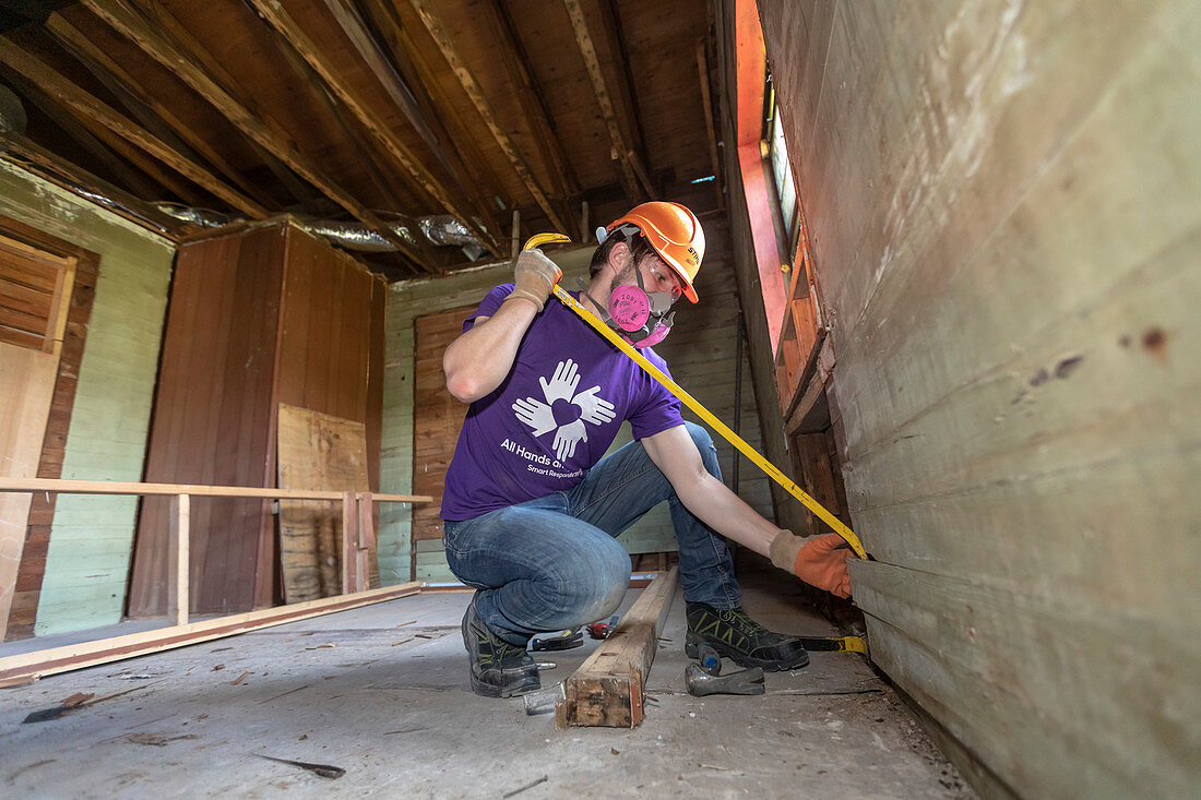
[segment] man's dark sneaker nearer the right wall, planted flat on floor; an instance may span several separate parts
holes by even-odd
[[[688,603],[688,633],[683,651],[697,657],[697,647],[707,641],[718,653],[742,667],[767,671],[799,669],[809,663],[800,637],[772,633],[741,608],[716,609],[705,603]]]

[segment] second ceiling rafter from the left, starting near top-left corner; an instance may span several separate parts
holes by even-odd
[[[64,19],[59,12],[55,11],[49,16],[49,18],[47,18],[46,30],[48,30],[70,53],[79,59],[79,61],[88,67],[92,74],[104,82],[106,85],[109,85],[110,88],[120,86],[121,91],[127,94],[135,101],[144,105],[147,109],[161,119],[175,136],[178,136],[198,155],[203,156],[226,178],[226,180],[237,186],[244,195],[253,198],[255,202],[265,208],[274,205],[271,199],[267,197],[261,189],[243,178],[241,174],[229,162],[227,162],[220,153],[213,149],[208,142],[196,133],[191,125],[185,124],[162,103],[147,94],[133,76],[126,72],[120,64],[104,53],[104,50],[102,50],[91,38]],[[143,120],[143,124],[145,124],[145,120]],[[150,126],[147,125],[147,127]],[[162,137],[160,136],[160,138]]]

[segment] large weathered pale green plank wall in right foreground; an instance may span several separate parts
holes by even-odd
[[[873,659],[991,792],[1201,764],[1201,6],[760,0]]]

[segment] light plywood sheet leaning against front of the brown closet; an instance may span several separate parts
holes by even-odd
[[[279,405],[280,489],[368,491],[366,425]],[[342,509],[336,502],[280,501],[280,560],[288,603],[337,595]],[[375,559],[371,581],[380,583]]]

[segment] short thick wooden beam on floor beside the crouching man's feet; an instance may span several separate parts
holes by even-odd
[[[633,728],[646,717],[646,675],[679,585],[679,568],[656,578],[613,635],[563,681],[564,699],[555,705],[560,728]]]

